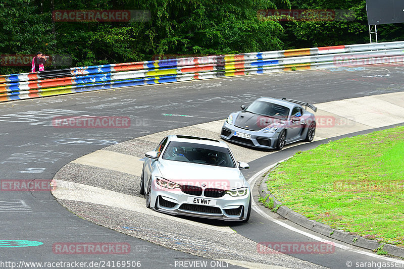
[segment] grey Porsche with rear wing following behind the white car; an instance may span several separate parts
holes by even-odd
[[[312,104],[276,98],[259,98],[242,111],[231,113],[223,124],[224,140],[257,148],[281,150],[284,145],[304,140],[311,142],[316,132],[316,117],[307,111]]]

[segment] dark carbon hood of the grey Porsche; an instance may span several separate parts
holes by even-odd
[[[266,117],[250,112],[241,111],[234,122],[236,127],[251,130],[251,131],[260,131],[266,127],[271,125],[279,126],[282,124],[282,121],[279,119]]]

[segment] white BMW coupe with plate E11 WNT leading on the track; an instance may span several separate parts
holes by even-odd
[[[169,135],[146,152],[140,194],[146,206],[168,214],[247,222],[250,186],[223,141]]]

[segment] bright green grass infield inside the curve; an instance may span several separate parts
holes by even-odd
[[[404,126],[295,154],[266,179],[311,220],[404,247]]]

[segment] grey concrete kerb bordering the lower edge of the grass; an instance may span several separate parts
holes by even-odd
[[[267,190],[267,184],[265,183],[265,180],[262,180],[262,182],[260,183],[258,191],[260,193],[260,196],[262,197],[266,197],[268,195],[268,198],[266,200],[267,202],[269,201],[270,198],[274,201],[274,208],[279,206],[276,212],[280,216],[295,224],[305,227],[313,232],[325,235],[338,241],[345,242],[352,246],[358,246],[373,251],[376,251],[376,249],[383,246],[382,244],[378,243],[377,240],[366,239],[362,236],[355,236],[342,230],[332,229],[328,225],[309,220],[302,214],[299,214],[291,210],[289,207],[282,205],[282,203],[278,199],[276,199],[275,196],[269,190]],[[383,250],[390,255],[404,258],[404,248],[396,247],[390,244],[385,244],[383,246]]]

